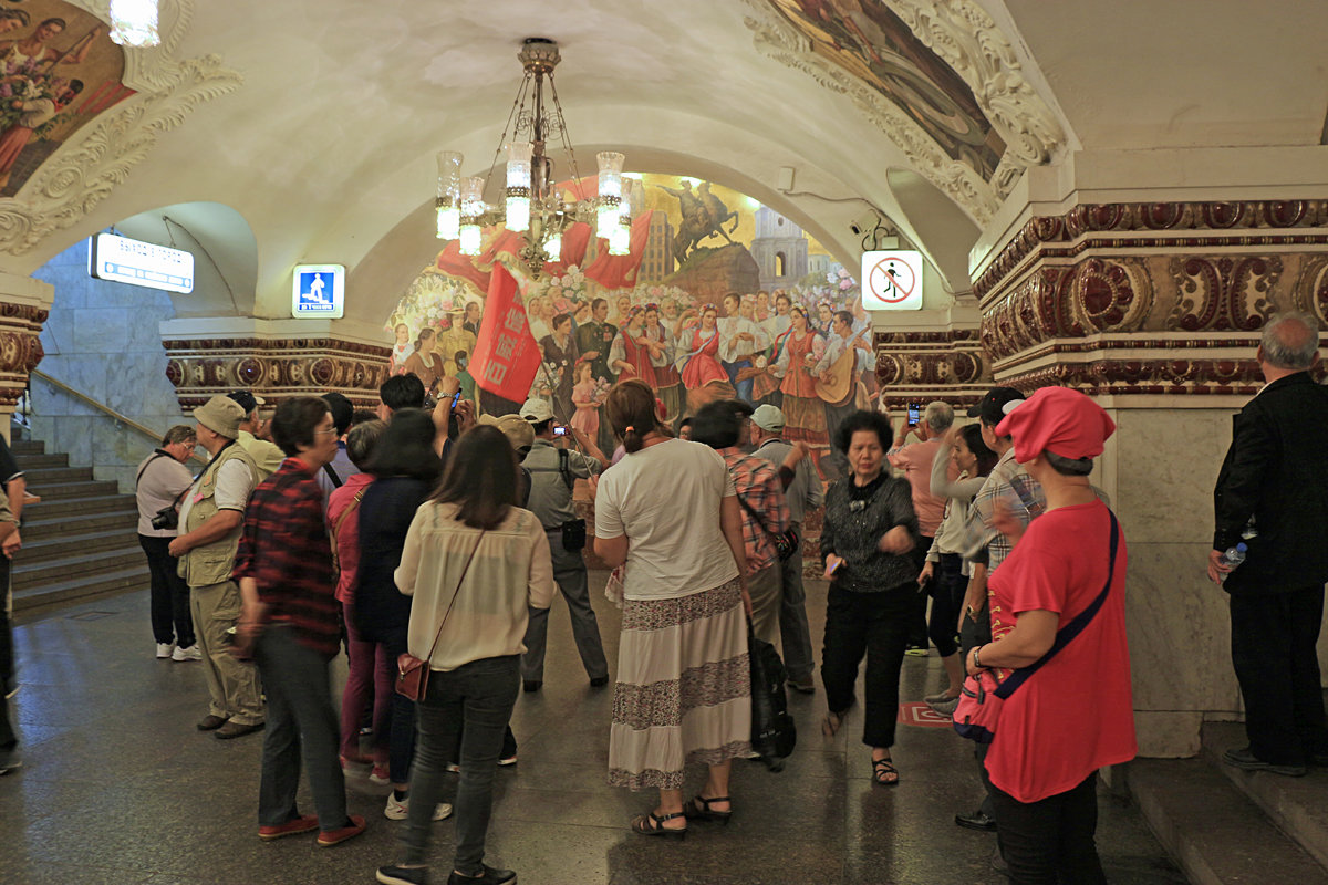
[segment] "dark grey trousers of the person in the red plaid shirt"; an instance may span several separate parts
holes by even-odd
[[[309,792],[319,829],[340,829],[345,815],[345,778],[337,751],[341,744],[328,662],[300,645],[292,630],[268,626],[254,649],[267,686],[267,731],[263,735],[263,778],[258,792],[260,827],[299,817],[295,791],[300,762],[309,772]]]

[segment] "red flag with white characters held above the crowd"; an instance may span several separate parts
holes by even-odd
[[[470,374],[482,390],[525,402],[539,370],[540,354],[526,322],[526,309],[517,304],[515,295],[517,280],[502,264],[494,264]]]

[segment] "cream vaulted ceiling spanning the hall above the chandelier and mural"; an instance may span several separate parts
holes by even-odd
[[[801,7],[867,21],[861,16],[874,3]],[[1027,138],[1004,138],[1008,157],[1023,153],[1023,162],[1040,150],[1057,162],[1076,150],[1323,139],[1328,4],[886,5],[957,58],[960,73],[967,68],[980,103],[1017,98],[1000,122],[1003,135],[1025,130]],[[162,131],[82,220],[0,267],[31,273],[109,224],[218,203],[256,243],[256,271],[235,268],[242,288],[254,287],[236,293],[239,313],[283,316],[291,267],[336,261],[351,271],[348,316],[373,322],[438,248],[429,218],[434,153],[463,151],[465,174],[487,170],[527,36],[562,46],[556,85],[583,174],[596,150],[612,147],[631,170],[732,186],[801,223],[850,265],[861,251],[850,224],[879,212],[961,293],[968,249],[1008,190],[1007,182],[984,191],[981,178],[956,174],[919,146],[898,107],[882,105],[861,77],[818,62],[772,0],[163,1],[167,28],[182,13],[171,50],[215,54],[243,84]],[[972,25],[968,42],[955,23]],[[793,194],[776,190],[782,167],[795,170]],[[227,243],[244,239],[234,215],[219,214],[216,226]],[[206,212],[191,215],[190,232],[208,241]]]

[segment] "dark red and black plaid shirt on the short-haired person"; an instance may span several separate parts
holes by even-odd
[[[299,458],[259,483],[244,510],[232,577],[258,582],[264,621],[292,628],[301,645],[331,659],[341,642],[323,490]]]

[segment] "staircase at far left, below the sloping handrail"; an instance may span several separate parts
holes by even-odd
[[[45,443],[15,439],[28,491],[41,498],[23,511],[23,549],[13,560],[13,609],[41,614],[70,602],[145,589],[147,560],[138,545],[138,508],[114,482]]]

